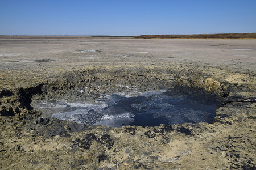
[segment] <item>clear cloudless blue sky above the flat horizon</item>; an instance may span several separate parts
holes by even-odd
[[[256,0],[0,0],[0,35],[256,32]]]

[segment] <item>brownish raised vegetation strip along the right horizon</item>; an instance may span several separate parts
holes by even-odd
[[[193,35],[140,35],[135,39],[256,39],[256,33],[217,33]]]

